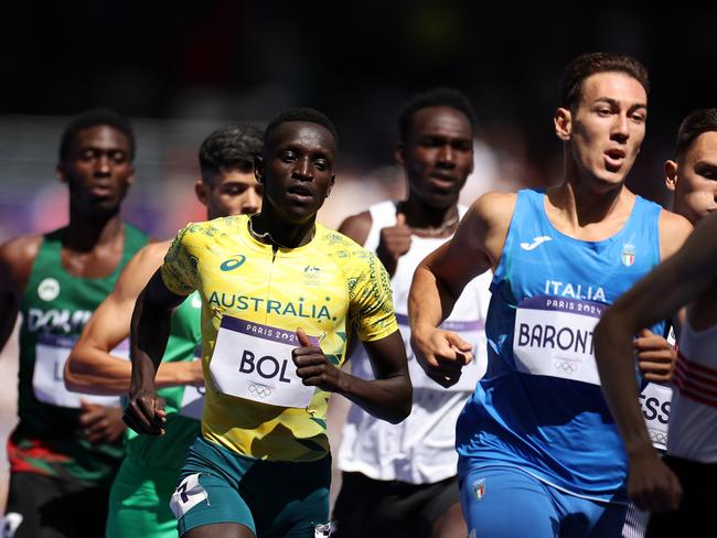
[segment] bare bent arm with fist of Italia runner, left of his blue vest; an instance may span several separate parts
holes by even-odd
[[[515,194],[489,193],[461,220],[453,238],[416,269],[408,297],[411,346],[431,379],[443,386],[458,380],[471,345],[458,334],[436,329],[453,309],[465,284],[495,268],[515,207]]]

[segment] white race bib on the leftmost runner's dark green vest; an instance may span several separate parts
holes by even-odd
[[[76,340],[69,336],[38,334],[35,368],[32,374],[32,386],[35,398],[44,404],[75,409],[79,409],[79,400],[85,400],[89,404],[99,404],[101,406],[119,407],[120,401],[118,396],[86,395],[72,392],[65,388],[63,372],[65,369],[65,362],[67,362],[67,357],[75,342]]]

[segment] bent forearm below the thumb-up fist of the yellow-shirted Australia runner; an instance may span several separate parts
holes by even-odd
[[[398,423],[410,413],[413,388],[408,370],[366,380],[342,373],[341,394],[376,418]]]

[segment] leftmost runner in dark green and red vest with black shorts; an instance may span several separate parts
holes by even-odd
[[[15,537],[101,536],[107,493],[122,449],[117,398],[69,392],[62,369],[93,311],[147,236],[119,211],[135,181],[135,136],[109,110],[74,118],[57,176],[69,189],[69,223],[0,247],[0,347],[18,313],[19,423],[8,441],[8,514]]]

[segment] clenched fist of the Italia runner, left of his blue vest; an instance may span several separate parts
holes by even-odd
[[[411,333],[410,346],[426,375],[441,387],[456,385],[463,366],[473,361],[473,346],[458,334],[430,327]]]

